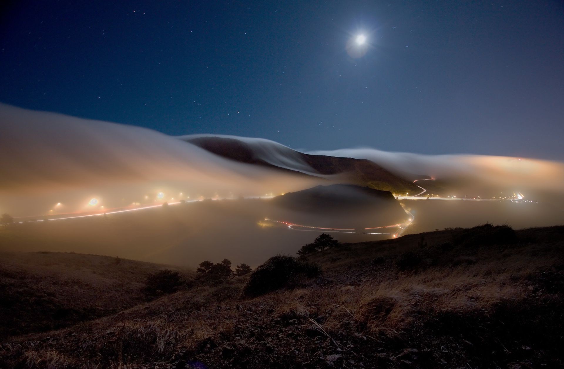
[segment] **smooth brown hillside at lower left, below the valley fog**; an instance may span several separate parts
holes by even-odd
[[[0,340],[138,305],[147,275],[165,268],[171,267],[91,254],[1,252]]]

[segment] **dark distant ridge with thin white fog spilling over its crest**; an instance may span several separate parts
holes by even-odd
[[[310,155],[266,139],[215,135],[189,135],[180,139],[215,155],[246,164],[292,171],[301,175],[336,177],[338,182],[368,186],[377,190],[418,190],[411,181],[398,177],[366,159]]]

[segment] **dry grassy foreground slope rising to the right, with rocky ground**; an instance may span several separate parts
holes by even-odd
[[[490,225],[344,244],[309,254],[319,276],[271,274],[293,288],[245,297],[258,271],[196,281],[118,314],[12,337],[0,367],[562,367],[563,246],[564,227]]]

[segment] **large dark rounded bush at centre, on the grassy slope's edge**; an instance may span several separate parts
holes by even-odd
[[[296,287],[304,278],[314,278],[320,274],[318,265],[292,256],[277,255],[258,266],[250,275],[244,294],[254,297],[280,288]]]

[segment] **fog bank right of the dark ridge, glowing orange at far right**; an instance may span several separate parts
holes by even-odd
[[[355,157],[377,162],[390,172],[413,177],[430,175],[446,181],[457,194],[521,192],[528,199],[564,209],[564,164],[558,161],[488,155],[422,155],[373,148],[312,151],[314,155]],[[415,177],[414,177],[415,179]],[[426,183],[428,185],[428,183]],[[422,185],[425,187],[425,185]]]

